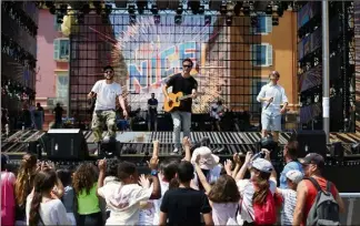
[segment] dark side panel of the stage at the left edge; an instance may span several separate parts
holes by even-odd
[[[32,1],[1,2],[2,125],[21,129],[22,109],[34,104],[39,9]]]

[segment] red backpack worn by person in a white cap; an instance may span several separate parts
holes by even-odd
[[[276,201],[270,189],[263,204],[253,203],[254,224],[256,225],[274,225],[277,224]]]

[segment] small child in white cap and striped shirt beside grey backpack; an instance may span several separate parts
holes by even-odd
[[[277,188],[277,193],[283,197],[283,208],[281,210],[281,225],[292,225],[293,210],[297,205],[297,187],[302,181],[303,174],[300,171],[289,171],[287,174],[289,188]]]

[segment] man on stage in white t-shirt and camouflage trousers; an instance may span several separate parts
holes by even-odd
[[[124,100],[122,97],[122,90],[119,83],[113,81],[113,68],[107,65],[103,68],[104,80],[98,81],[91,92],[88,94],[89,99],[97,95],[96,106],[92,114],[91,129],[94,135],[94,142],[99,143],[102,140],[102,126],[107,123],[108,135],[103,138],[108,142],[110,138],[116,136],[116,101],[120,102],[120,106],[123,110],[123,116],[128,116],[126,110]]]

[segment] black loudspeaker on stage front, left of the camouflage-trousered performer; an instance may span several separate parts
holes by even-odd
[[[47,136],[49,160],[83,161],[89,156],[88,145],[80,129],[51,129]]]

